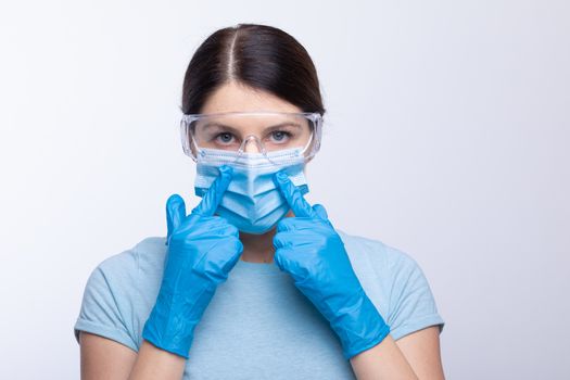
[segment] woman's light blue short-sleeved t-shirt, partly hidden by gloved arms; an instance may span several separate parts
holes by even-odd
[[[397,340],[444,321],[406,253],[341,236],[366,294]],[[104,259],[85,288],[75,325],[138,352],[160,290],[167,246],[148,238]],[[275,263],[238,261],[194,330],[183,379],[354,379],[328,321]]]

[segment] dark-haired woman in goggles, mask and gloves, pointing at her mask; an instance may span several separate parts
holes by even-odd
[[[407,254],[311,206],[316,69],[284,31],[238,25],[194,53],[182,145],[191,213],[102,262],[75,326],[84,379],[443,379],[438,314]]]

